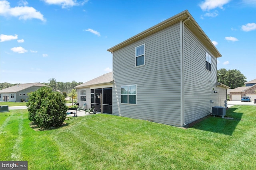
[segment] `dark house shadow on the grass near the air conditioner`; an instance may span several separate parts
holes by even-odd
[[[224,118],[208,115],[202,118],[201,121],[198,121],[198,123],[192,123],[193,125],[190,128],[231,136],[238,123],[242,121],[243,115],[243,113],[237,113],[235,110],[236,108],[226,109],[226,116]]]

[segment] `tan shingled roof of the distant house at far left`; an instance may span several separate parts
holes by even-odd
[[[5,89],[0,90],[0,93],[16,93],[19,92],[21,90],[30,88],[32,86],[38,86],[38,87],[43,87],[43,86],[47,86],[45,84],[42,83],[25,83],[25,84],[18,84],[16,86],[12,86],[12,87],[8,87]]]

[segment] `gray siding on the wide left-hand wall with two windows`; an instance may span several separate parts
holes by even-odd
[[[145,44],[145,65],[135,47]],[[113,52],[113,115],[180,125],[180,25]],[[137,85],[136,105],[121,104],[121,86]]]

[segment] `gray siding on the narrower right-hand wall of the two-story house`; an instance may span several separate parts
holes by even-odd
[[[206,70],[206,52],[212,56],[212,71]],[[185,123],[208,115],[217,95],[217,59],[188,29],[184,28],[184,112]]]

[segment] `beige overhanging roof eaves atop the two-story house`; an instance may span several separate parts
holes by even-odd
[[[188,19],[188,20],[187,20]],[[217,50],[217,48],[214,46],[212,41],[207,37],[207,35],[204,33],[204,31],[201,29],[201,27],[196,23],[194,18],[191,16],[191,14],[188,12],[188,10],[185,10],[165,21],[162,21],[161,23],[158,23],[157,25],[150,27],[149,29],[146,29],[145,31],[127,39],[126,41],[123,41],[122,43],[119,43],[118,45],[115,45],[114,47],[111,47],[107,51],[114,52],[122,47],[125,47],[126,45],[129,45],[131,43],[134,43],[144,37],[147,37],[148,35],[151,35],[157,31],[160,31],[161,29],[164,29],[170,25],[173,25],[174,23],[177,23],[179,21],[184,21],[185,24],[190,28],[190,30],[204,43],[206,47],[214,54],[216,57],[221,57],[222,55]]]

